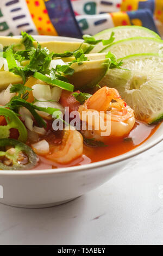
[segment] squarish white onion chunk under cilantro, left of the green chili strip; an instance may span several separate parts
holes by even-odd
[[[46,84],[35,84],[33,87],[33,96],[36,100],[43,98],[45,100],[52,100],[52,93],[50,86]]]

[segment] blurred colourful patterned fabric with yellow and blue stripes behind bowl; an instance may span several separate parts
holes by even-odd
[[[82,38],[126,25],[163,37],[163,0],[0,0],[0,35],[26,31]]]

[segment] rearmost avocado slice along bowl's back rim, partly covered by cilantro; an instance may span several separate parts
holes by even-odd
[[[0,42],[4,46],[10,46],[12,44],[15,44],[14,50],[16,51],[23,51],[25,50],[25,47],[23,44],[21,44],[21,38],[12,38],[8,36],[0,36]],[[90,47],[89,44],[81,42],[64,42],[64,41],[48,41],[48,42],[39,42],[41,47],[47,47],[50,52],[55,53],[64,53],[65,51],[75,51],[80,46],[83,49],[84,52],[88,50]],[[33,42],[34,46],[37,46],[37,42]]]

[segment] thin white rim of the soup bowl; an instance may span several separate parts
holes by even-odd
[[[57,40],[58,39],[61,39],[61,40],[68,39],[71,41],[80,41],[80,42],[82,41],[82,40],[76,39],[76,38],[65,38],[63,36],[42,36],[42,35],[33,35],[33,36],[34,36],[34,38],[38,38],[38,39],[49,38],[49,39],[57,39]],[[20,38],[20,36],[14,36],[14,37]],[[163,130],[162,125],[160,125],[160,127],[158,127],[158,129],[161,129],[161,127]],[[157,130],[155,132],[157,132]],[[148,139],[147,139],[147,141],[148,141]],[[142,148],[140,148],[140,146],[138,146],[135,149],[130,150],[127,153],[124,153],[122,155],[112,157],[111,159],[95,162],[95,163],[83,164],[81,166],[62,167],[62,168],[56,168],[56,169],[43,169],[43,170],[0,170],[0,175],[1,176],[7,176],[7,175],[26,176],[26,175],[47,175],[47,174],[55,175],[55,174],[81,172],[82,170],[85,171],[85,170],[90,170],[90,169],[96,169],[99,167],[105,167],[105,166],[109,166],[111,164],[115,164],[115,163],[119,163],[119,162],[128,160],[131,157],[137,156],[137,155],[147,151],[148,149],[153,148],[156,144],[160,143],[162,140],[163,140],[163,133],[158,138],[156,138],[154,141],[147,143],[147,145],[144,145]],[[141,145],[143,145],[144,143],[145,142],[143,142]]]

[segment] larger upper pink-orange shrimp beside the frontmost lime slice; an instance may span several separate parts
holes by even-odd
[[[125,137],[131,131],[135,124],[134,111],[126,102],[121,99],[120,94],[114,88],[103,87],[93,94],[84,105],[78,109],[80,119],[86,123],[86,129],[82,130],[86,138],[95,138],[98,141],[105,142],[110,138]],[[87,113],[86,117],[83,112]],[[101,112],[103,115],[100,117]],[[89,115],[93,114],[95,118],[90,122]],[[90,119],[91,120],[91,119]],[[103,121],[105,130],[110,125],[110,132],[103,135],[105,130],[95,129],[99,121]],[[106,123],[106,120],[109,120]],[[91,126],[92,130],[89,129]]]

